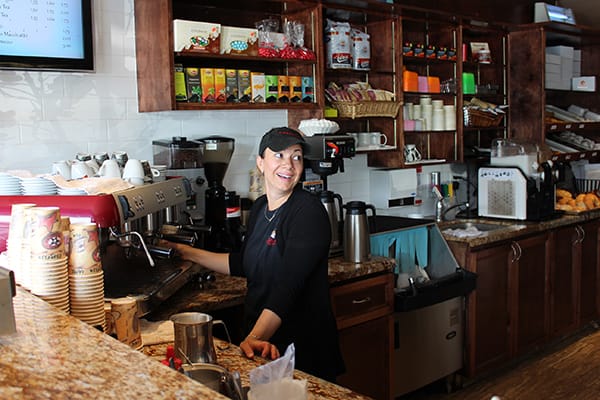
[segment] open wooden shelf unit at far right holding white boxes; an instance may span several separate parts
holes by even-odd
[[[572,47],[581,51],[581,76],[596,75],[600,68],[599,38],[600,30],[557,23],[528,24],[510,32],[510,136],[543,144],[546,138],[555,140],[561,132],[571,131],[595,141],[600,140],[598,122],[555,123],[544,118],[552,116],[546,110],[547,105],[566,110],[574,104],[592,112],[600,112],[595,92],[557,90],[547,86],[546,74],[550,71],[545,55],[547,46]],[[585,149],[576,147],[575,150]],[[597,156],[597,151],[582,151],[584,158]],[[566,157],[567,160],[575,159],[572,155]]]

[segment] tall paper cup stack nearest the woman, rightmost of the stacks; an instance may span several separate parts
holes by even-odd
[[[100,262],[98,228],[94,223],[72,223],[70,231],[71,315],[104,330],[104,272]]]

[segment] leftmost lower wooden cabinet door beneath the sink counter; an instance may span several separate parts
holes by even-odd
[[[473,376],[509,359],[508,265],[510,244],[471,252],[467,269],[477,274],[468,296],[467,375]]]

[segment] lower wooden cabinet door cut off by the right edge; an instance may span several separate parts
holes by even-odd
[[[579,284],[579,326],[600,316],[599,287],[599,249],[600,237],[598,221],[581,225],[581,275]]]

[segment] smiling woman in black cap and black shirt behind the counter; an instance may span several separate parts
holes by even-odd
[[[256,165],[265,195],[252,207],[240,253],[171,245],[186,260],[246,277],[248,336],[240,348],[247,357],[275,359],[294,343],[296,368],[335,381],[344,364],[329,298],[329,220],[319,199],[298,185],[305,146],[289,128],[262,137]]]

